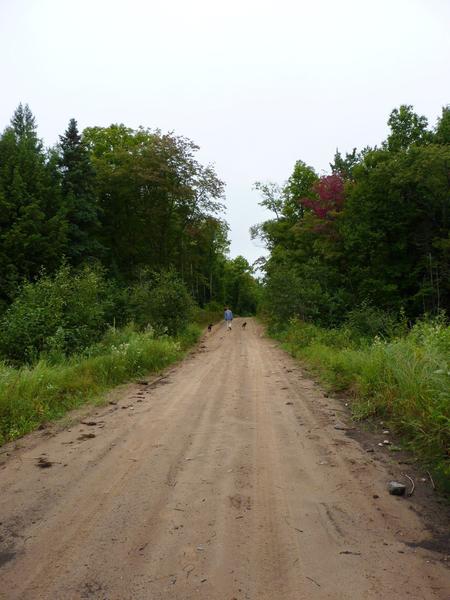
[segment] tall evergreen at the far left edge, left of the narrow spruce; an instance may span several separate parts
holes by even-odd
[[[53,271],[66,243],[59,188],[28,105],[20,104],[0,137],[0,298],[22,279]]]

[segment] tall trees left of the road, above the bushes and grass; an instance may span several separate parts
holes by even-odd
[[[197,151],[142,127],[80,135],[71,119],[46,153],[19,105],[0,136],[0,309],[42,269],[96,260],[121,287],[143,271],[174,270],[200,305],[225,302],[224,184]]]

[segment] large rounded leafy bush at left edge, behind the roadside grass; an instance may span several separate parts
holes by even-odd
[[[25,283],[0,321],[1,354],[20,363],[80,351],[105,331],[111,295],[102,271],[91,267],[63,266]]]

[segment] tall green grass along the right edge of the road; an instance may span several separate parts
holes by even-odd
[[[450,328],[442,320],[390,340],[300,321],[271,333],[329,391],[352,399],[355,419],[389,423],[450,492]]]

